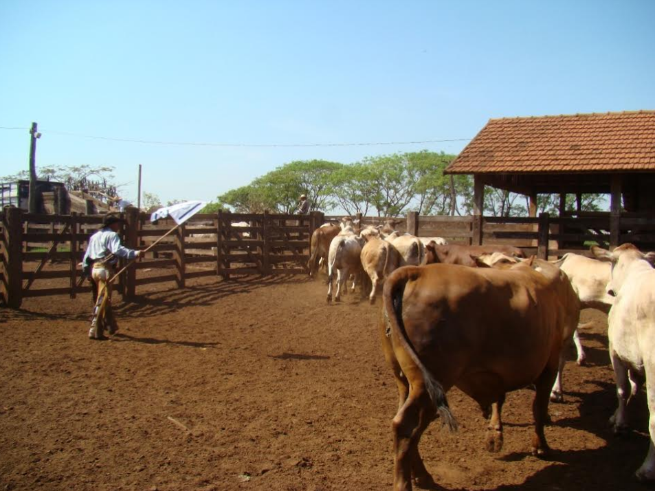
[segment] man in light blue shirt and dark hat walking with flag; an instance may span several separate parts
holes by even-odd
[[[93,307],[93,319],[89,329],[89,339],[105,339],[103,331],[108,327],[109,334],[118,330],[118,324],[111,311],[111,283],[118,258],[138,258],[141,251],[127,249],[120,244],[118,230],[120,218],[107,215],[102,220],[102,228],[91,236],[87,252],[82,260],[82,272],[91,277],[97,292]]]

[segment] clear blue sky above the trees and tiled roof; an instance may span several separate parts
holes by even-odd
[[[37,165],[210,200],[283,163],[471,138],[490,117],[655,109],[655,1],[0,2],[0,126]],[[51,133],[52,132],[52,133]],[[0,176],[27,168],[0,130]]]

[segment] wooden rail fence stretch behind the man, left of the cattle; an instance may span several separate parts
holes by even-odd
[[[88,291],[79,264],[102,218],[5,208],[0,216],[3,304],[19,308],[25,297],[75,297]],[[120,235],[130,249],[144,249],[175,227],[173,220],[155,225],[137,209],[128,209],[122,218]],[[196,277],[306,275],[309,239],[319,220],[320,214],[197,214],[121,275],[116,288],[131,298],[139,286],[175,282],[184,288],[187,279]]]

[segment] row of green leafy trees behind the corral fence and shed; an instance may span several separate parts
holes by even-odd
[[[293,213],[300,194],[307,194],[312,210],[354,215],[400,216],[468,215],[473,208],[473,179],[444,175],[456,155],[443,152],[407,152],[366,157],[352,164],[324,160],[293,161],[217,197],[205,212]],[[557,214],[559,196],[538,196],[540,212]],[[573,209],[575,196],[567,207]],[[599,194],[585,194],[583,209],[597,210]],[[487,187],[485,215],[526,216],[526,196]]]

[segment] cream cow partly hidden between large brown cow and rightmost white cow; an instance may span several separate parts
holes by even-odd
[[[614,304],[614,297],[605,291],[610,282],[610,263],[587,258],[584,255],[568,253],[555,262],[564,271],[577,293],[581,308],[595,308],[606,314]],[[575,330],[573,342],[577,350],[577,364],[584,365],[586,355]]]

